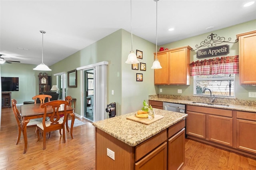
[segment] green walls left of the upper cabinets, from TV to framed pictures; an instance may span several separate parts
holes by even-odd
[[[143,100],[148,100],[148,94],[156,94],[154,86],[154,70],[150,69],[154,61],[155,45],[138,36],[133,36],[133,47],[143,51],[143,59],[146,63],[146,71],[132,70],[130,64],[125,61],[131,50],[131,35],[125,30],[118,30],[105,38],[85,47],[69,57],[49,66],[52,71],[46,71],[52,76],[52,85],[56,85],[55,73],[68,72],[100,61],[108,61],[107,66],[107,103],[117,103],[117,114],[134,112],[142,107]],[[14,67],[12,67],[14,66]],[[38,94],[38,74],[34,71],[36,65],[31,64],[2,64],[2,76],[20,77],[20,91],[12,92],[12,98],[18,103],[32,101],[32,97]],[[143,81],[136,81],[136,73],[143,74]],[[67,80],[67,77],[66,77]],[[66,95],[76,98],[76,113],[81,112],[81,71],[78,71],[78,87],[68,88]],[[156,89],[158,89],[156,87]],[[114,95],[111,91],[114,90]]]

